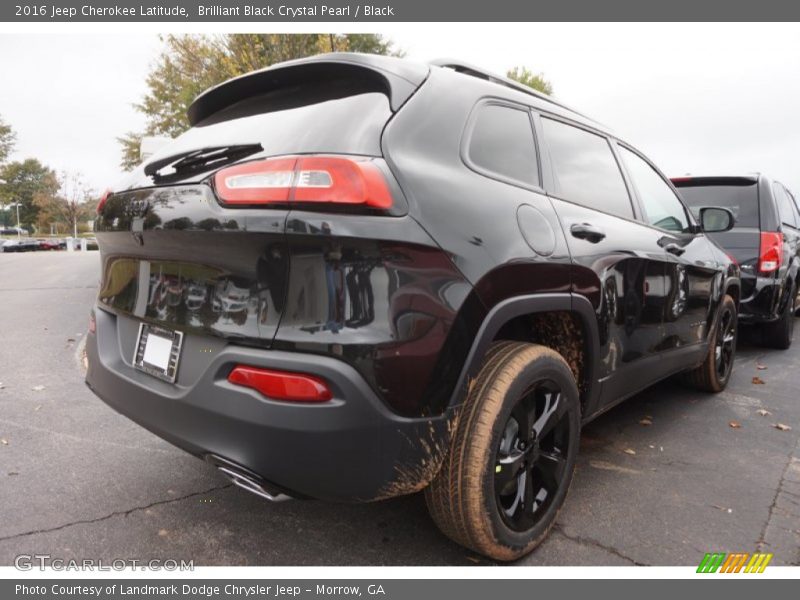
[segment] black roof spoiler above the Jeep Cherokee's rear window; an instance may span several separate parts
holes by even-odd
[[[277,63],[207,89],[189,106],[192,126],[239,102],[276,89],[313,81],[320,85],[352,78],[364,91],[380,90],[396,112],[428,76],[426,65],[372,54],[336,52]]]

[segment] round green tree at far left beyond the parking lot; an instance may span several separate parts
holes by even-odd
[[[11,208],[19,202],[20,224],[30,229],[36,224],[39,207],[33,199],[37,194],[55,195],[59,189],[55,172],[35,158],[8,163],[0,168],[0,179],[6,181],[0,185],[0,208],[4,224],[16,225],[16,209]]]

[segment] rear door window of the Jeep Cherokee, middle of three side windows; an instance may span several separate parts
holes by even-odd
[[[566,200],[621,217],[633,217],[631,199],[606,138],[542,118],[553,171]]]

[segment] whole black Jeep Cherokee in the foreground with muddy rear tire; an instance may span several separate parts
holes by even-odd
[[[189,118],[99,209],[86,380],[241,487],[425,490],[448,536],[512,560],[552,526],[582,424],[674,373],[728,382],[734,261],[547,96],[332,54]]]

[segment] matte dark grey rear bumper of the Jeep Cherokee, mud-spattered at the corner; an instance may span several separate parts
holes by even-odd
[[[96,311],[86,383],[109,406],[191,454],[222,457],[289,495],[342,501],[418,491],[441,464],[453,413],[398,416],[342,361],[189,334],[178,381],[170,384],[133,368],[127,321]],[[322,377],[334,398],[319,405],[268,400],[228,383],[236,364]]]

